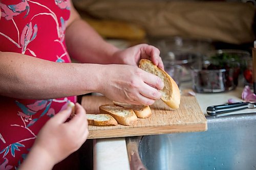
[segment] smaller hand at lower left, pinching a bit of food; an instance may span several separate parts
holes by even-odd
[[[40,130],[33,146],[37,150],[45,151],[53,163],[78,150],[89,135],[86,111],[76,103],[76,115],[66,122],[71,112],[72,108],[68,107],[52,117]]]

